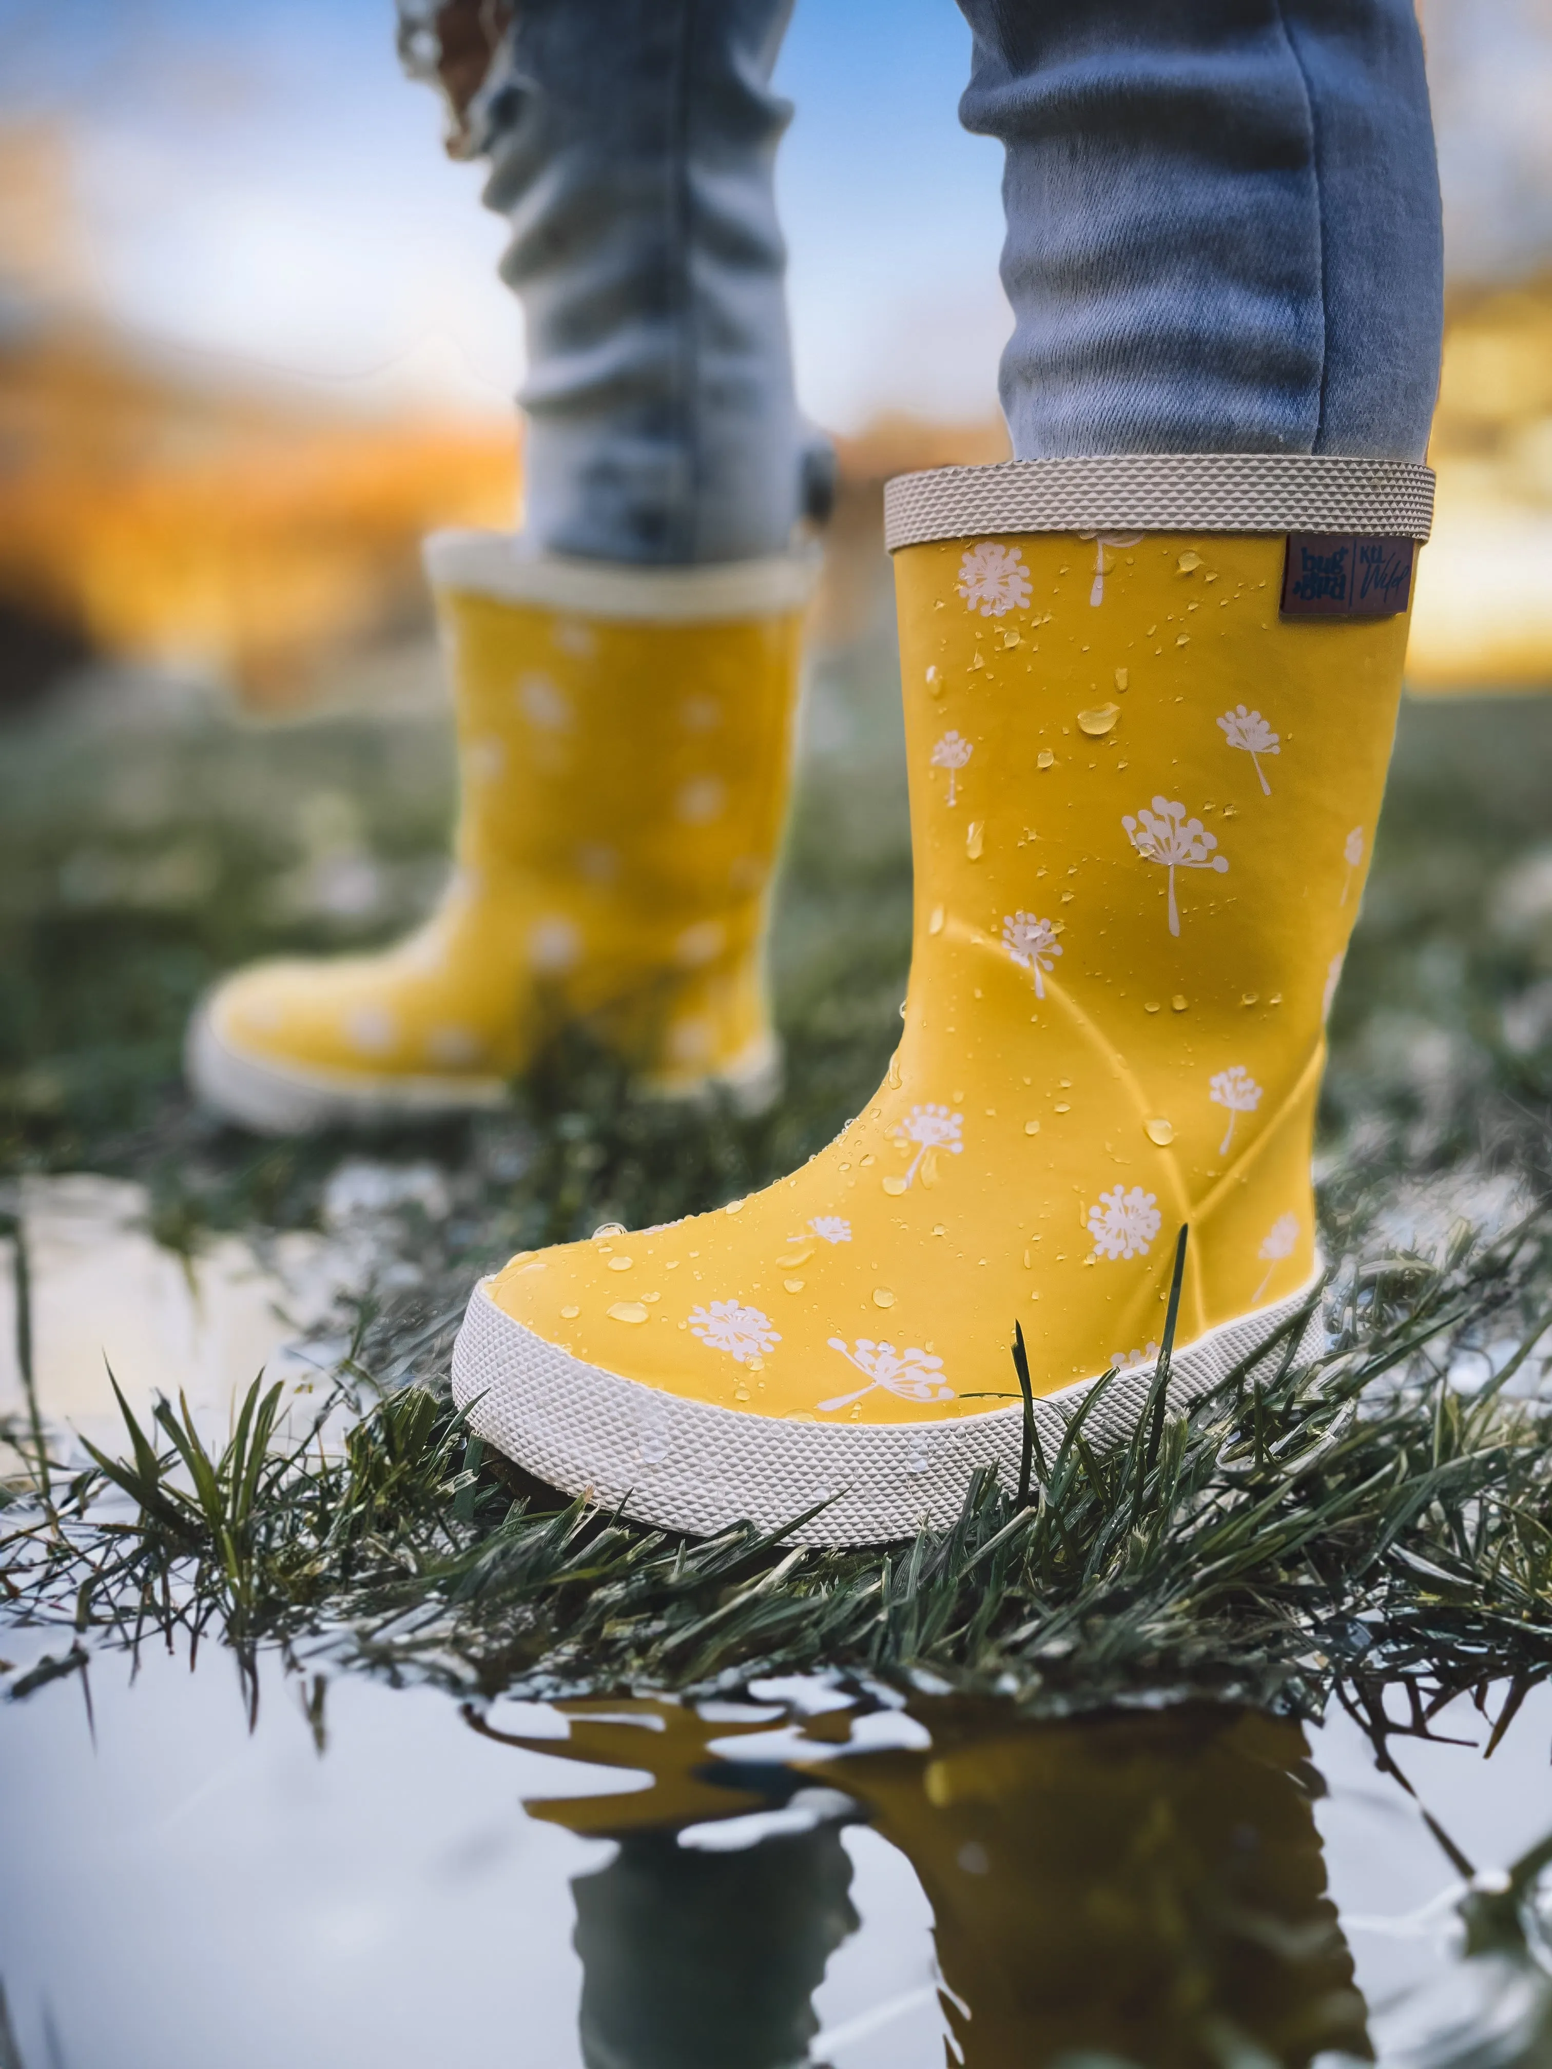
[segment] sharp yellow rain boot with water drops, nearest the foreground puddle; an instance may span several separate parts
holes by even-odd
[[[1175,1399],[1302,1314],[1324,1016],[1384,788],[1432,476],[948,468],[890,490],[915,836],[904,1032],[793,1177],[480,1285],[453,1386],[555,1486],[871,1541],[1016,1475],[1111,1366]]]

